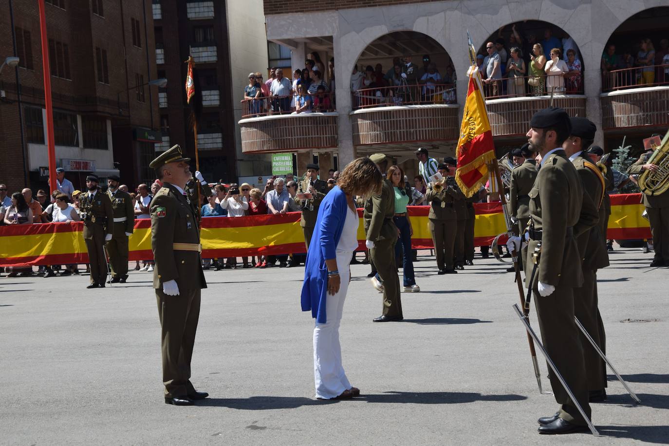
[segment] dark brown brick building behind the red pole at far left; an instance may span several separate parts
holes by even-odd
[[[21,60],[0,76],[0,182],[10,191],[48,189],[40,169],[48,163],[37,2],[11,0],[0,8],[0,58]],[[102,178],[120,173],[131,187],[151,179],[158,91],[142,86],[157,77],[151,3],[46,0],[45,15],[56,165],[75,187],[90,171]]]

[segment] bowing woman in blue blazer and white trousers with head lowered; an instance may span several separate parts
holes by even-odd
[[[379,193],[383,176],[369,158],[358,158],[339,175],[338,185],[318,208],[306,254],[302,311],[311,310],[314,326],[314,379],[317,399],[357,397],[341,364],[339,324],[351,282],[351,257],[358,247],[355,196]]]

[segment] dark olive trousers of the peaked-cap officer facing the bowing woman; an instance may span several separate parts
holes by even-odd
[[[191,357],[200,315],[201,290],[167,296],[156,289],[161,320],[163,384],[165,397],[185,397],[195,389],[191,384]]]

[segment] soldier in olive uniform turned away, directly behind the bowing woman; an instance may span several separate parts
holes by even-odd
[[[385,154],[375,153],[369,156],[382,173],[386,171],[388,162]],[[390,322],[403,320],[402,302],[400,300],[399,276],[395,264],[395,243],[397,243],[397,226],[393,223],[395,215],[395,189],[389,179],[383,180],[381,194],[371,197],[365,203],[363,217],[367,226],[365,245],[369,249],[371,261],[381,277],[371,282],[377,290],[383,292],[383,313],[374,322]]]

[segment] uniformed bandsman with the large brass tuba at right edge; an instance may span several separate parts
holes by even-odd
[[[664,136],[662,143],[669,138],[669,133]],[[656,172],[657,164],[650,164],[648,158],[654,150],[648,150],[628,168],[628,174],[641,175],[644,171]],[[609,169],[610,170],[610,169]],[[653,249],[655,256],[650,266],[669,266],[669,191],[659,195],[641,194],[644,198],[644,206],[650,221],[650,233],[653,235]]]

